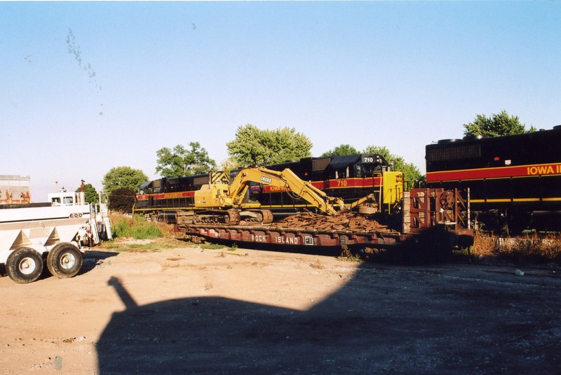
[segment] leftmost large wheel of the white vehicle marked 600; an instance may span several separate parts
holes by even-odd
[[[18,284],[36,281],[43,272],[43,258],[32,248],[18,248],[6,260],[6,273]]]

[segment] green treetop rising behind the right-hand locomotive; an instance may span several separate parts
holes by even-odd
[[[526,125],[520,123],[518,116],[508,115],[504,109],[499,114],[493,113],[489,118],[482,114],[475,115],[475,120],[464,124],[464,129],[464,138],[536,132],[533,126],[526,130]]]

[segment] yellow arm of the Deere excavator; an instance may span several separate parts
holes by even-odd
[[[241,204],[251,182],[290,190],[292,194],[296,194],[318,210],[327,213],[327,215],[337,215],[339,211],[345,209],[343,199],[327,196],[325,192],[314,187],[311,183],[303,181],[290,169],[287,168],[279,172],[264,167],[242,169],[237,174],[230,185],[229,192],[229,198],[234,205],[239,206]]]

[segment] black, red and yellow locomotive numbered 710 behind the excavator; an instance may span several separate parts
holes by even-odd
[[[389,214],[400,211],[403,198],[403,173],[391,171],[391,165],[378,154],[350,156],[304,157],[294,162],[266,166],[273,171],[290,169],[304,181],[323,190],[330,197],[342,198],[345,204],[374,193],[378,210]],[[196,209],[195,191],[208,183],[228,183],[238,171],[231,174],[216,172],[159,178],[140,185],[133,213],[156,215],[158,220],[173,221],[177,211]],[[289,189],[251,183],[241,208],[259,206],[275,215],[295,213],[313,206],[297,197]]]

